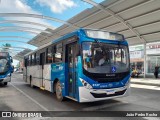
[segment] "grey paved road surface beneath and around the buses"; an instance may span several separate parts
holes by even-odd
[[[138,82],[135,82],[138,79],[131,80],[134,84],[131,84],[131,95],[128,97],[80,104],[69,99],[64,102],[58,102],[52,93],[38,88],[31,88],[23,81],[22,77],[22,74],[13,74],[12,82],[8,86],[0,86],[0,111],[160,111],[160,87],[138,84]],[[37,118],[32,119],[37,120]],[[45,119],[50,120],[51,118]],[[61,119],[72,120],[74,118],[66,117]],[[79,117],[76,119],[106,120],[103,117]],[[128,118],[107,119],[127,120]],[[158,118],[139,117],[132,119],[156,120]]]

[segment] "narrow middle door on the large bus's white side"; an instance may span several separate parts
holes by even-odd
[[[41,85],[40,88],[41,88],[41,89],[43,89],[43,87],[44,87],[44,86],[43,86],[44,61],[45,61],[45,53],[43,52],[43,53],[40,54],[40,65],[41,65],[41,66],[40,66],[40,69],[42,70],[42,72],[41,72],[41,73],[42,73],[42,75],[41,75],[41,83],[40,83],[40,85]]]

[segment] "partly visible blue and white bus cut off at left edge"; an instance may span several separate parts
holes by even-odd
[[[8,52],[0,52],[0,83],[3,85],[11,81],[12,61]]]

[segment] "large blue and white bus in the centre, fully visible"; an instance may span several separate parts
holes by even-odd
[[[24,80],[31,86],[93,102],[129,93],[130,61],[123,35],[79,29],[24,57]]]

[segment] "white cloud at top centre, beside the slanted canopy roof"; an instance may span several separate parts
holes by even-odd
[[[73,0],[36,0],[35,3],[41,7],[49,7],[54,13],[62,13],[68,8],[77,6]]]

